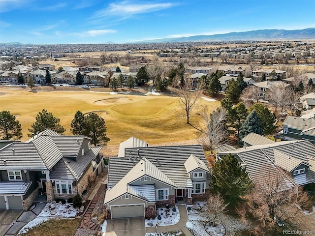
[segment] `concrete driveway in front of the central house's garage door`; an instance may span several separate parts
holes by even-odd
[[[107,221],[106,236],[144,236],[144,217]]]

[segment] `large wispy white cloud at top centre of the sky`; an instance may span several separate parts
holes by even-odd
[[[165,3],[150,3],[150,2],[138,2],[133,3],[127,0],[111,3],[108,8],[99,10],[95,13],[95,17],[104,17],[109,15],[120,16],[123,18],[130,17],[135,14],[147,13],[158,11],[175,6],[176,4],[171,2]]]

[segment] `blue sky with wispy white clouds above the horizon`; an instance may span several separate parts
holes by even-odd
[[[125,43],[315,28],[315,0],[0,0],[0,42]]]

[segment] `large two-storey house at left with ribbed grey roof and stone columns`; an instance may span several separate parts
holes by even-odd
[[[27,210],[39,192],[47,202],[82,194],[103,167],[102,147],[91,140],[47,129],[25,143],[2,144],[0,209]]]

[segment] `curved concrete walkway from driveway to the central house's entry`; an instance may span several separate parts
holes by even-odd
[[[187,210],[185,205],[177,205],[179,213],[180,213],[180,220],[176,225],[169,225],[169,226],[158,226],[157,232],[170,232],[170,231],[177,231],[181,230],[185,234],[185,236],[192,236],[190,231],[186,228],[186,222],[188,220]],[[155,233],[156,227],[146,227],[146,233]]]

